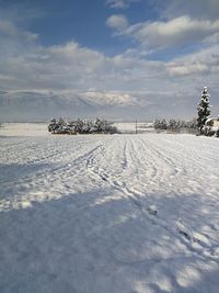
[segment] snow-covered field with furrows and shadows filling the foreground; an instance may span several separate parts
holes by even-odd
[[[218,293],[219,139],[5,136],[0,292]]]

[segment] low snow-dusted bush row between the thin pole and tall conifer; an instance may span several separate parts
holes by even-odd
[[[196,133],[197,123],[196,120],[193,121],[183,121],[183,120],[155,120],[153,123],[153,127],[157,131],[169,131],[173,133],[187,132],[187,133]]]

